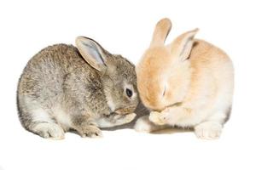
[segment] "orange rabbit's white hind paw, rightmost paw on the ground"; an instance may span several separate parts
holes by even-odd
[[[200,139],[218,139],[222,125],[218,122],[202,122],[195,127],[195,135]]]

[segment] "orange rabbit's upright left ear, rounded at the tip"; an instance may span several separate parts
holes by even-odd
[[[164,18],[156,24],[150,47],[161,46],[165,44],[166,37],[172,28],[172,22],[168,18]]]

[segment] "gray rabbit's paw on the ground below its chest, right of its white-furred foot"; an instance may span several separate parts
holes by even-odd
[[[86,125],[82,127],[82,129],[79,130],[79,134],[81,137],[89,137],[89,138],[96,138],[96,137],[102,137],[102,131],[99,127],[96,127],[96,125]]]

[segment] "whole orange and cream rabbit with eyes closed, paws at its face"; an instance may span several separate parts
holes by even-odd
[[[169,19],[160,20],[149,48],[137,65],[137,87],[155,125],[193,127],[201,139],[217,139],[230,116],[234,70],[229,56],[203,40],[198,29],[165,45]],[[157,127],[142,117],[135,128]]]

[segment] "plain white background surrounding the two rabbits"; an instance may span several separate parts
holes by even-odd
[[[255,169],[255,8],[253,1],[1,1],[0,169]],[[18,120],[15,93],[28,59],[48,45],[92,37],[135,64],[155,23],[172,20],[167,42],[199,27],[196,37],[223,48],[236,68],[230,122],[220,139],[195,134],[106,132],[103,139],[66,133],[54,141],[28,133]]]

